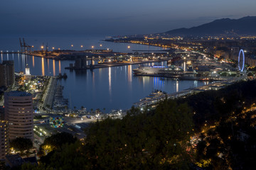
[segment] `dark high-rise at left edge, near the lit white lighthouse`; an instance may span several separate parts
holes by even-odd
[[[2,64],[0,64],[0,86],[11,86],[14,82],[14,61],[3,61]]]

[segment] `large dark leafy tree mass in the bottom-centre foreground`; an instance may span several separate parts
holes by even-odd
[[[122,120],[91,125],[85,147],[98,169],[186,169],[192,128],[188,105],[165,100],[156,110],[133,107]]]

